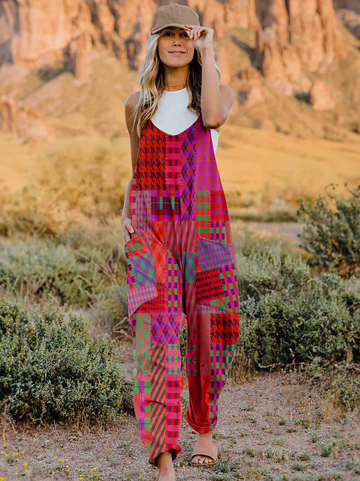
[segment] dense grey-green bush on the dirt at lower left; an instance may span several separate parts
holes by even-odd
[[[0,303],[0,405],[16,421],[117,422],[132,410],[132,383],[114,342],[52,309],[31,315]]]

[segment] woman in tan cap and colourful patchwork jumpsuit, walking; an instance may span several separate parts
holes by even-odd
[[[121,222],[134,409],[156,479],[168,481],[181,450],[178,334],[186,322],[194,466],[217,460],[211,431],[239,335],[235,247],[213,145],[234,96],[218,85],[213,30],[191,8],[158,8],[150,32],[140,91],[125,102],[132,177]]]

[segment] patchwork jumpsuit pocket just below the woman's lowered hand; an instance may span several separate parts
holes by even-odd
[[[127,262],[127,309],[130,317],[141,304],[157,297],[157,284],[152,254],[147,252],[140,234],[127,240],[124,252]]]

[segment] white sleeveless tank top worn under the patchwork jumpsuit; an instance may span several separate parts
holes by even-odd
[[[180,90],[164,90],[157,104],[157,110],[151,117],[151,122],[162,132],[177,135],[190,127],[195,122],[197,113],[189,110],[189,93],[184,87]],[[214,153],[216,152],[219,133],[210,129]]]

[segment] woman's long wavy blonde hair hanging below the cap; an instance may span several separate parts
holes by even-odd
[[[165,71],[157,53],[157,44],[161,33],[162,30],[150,35],[146,44],[146,57],[139,69],[137,84],[140,85],[140,96],[137,104],[132,109],[133,125],[136,127],[138,137],[141,136],[145,122],[155,113],[158,101],[165,88]],[[213,49],[213,54],[218,83],[220,83],[221,71],[218,66],[218,54],[215,49]],[[201,54],[197,49],[194,49],[194,55],[189,63],[185,82],[190,95],[187,108],[198,114],[201,111],[201,74]]]

